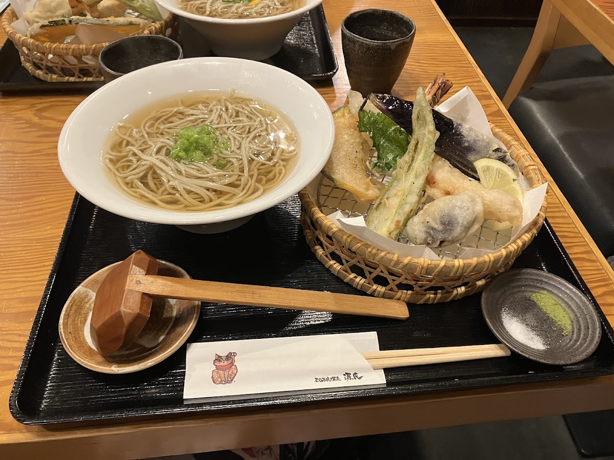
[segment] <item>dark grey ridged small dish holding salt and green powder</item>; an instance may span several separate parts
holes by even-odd
[[[534,361],[565,366],[588,358],[599,345],[601,322],[593,304],[548,272],[509,270],[486,286],[481,302],[497,339]]]

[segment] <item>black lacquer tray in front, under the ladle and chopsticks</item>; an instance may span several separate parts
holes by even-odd
[[[602,318],[603,338],[593,356],[573,366],[547,366],[512,354],[509,358],[389,369],[385,388],[187,404],[182,400],[185,345],[150,369],[106,375],[72,361],[58,338],[58,319],[71,291],[91,273],[138,249],[178,264],[194,278],[363,294],[335,277],[311,253],[300,226],[297,196],[256,215],[233,231],[198,235],[170,225],[122,218],[77,195],[10,396],[10,411],[18,421],[45,424],[265,409],[614,374],[612,328],[595,303]],[[559,275],[593,299],[547,222],[515,267],[532,267]],[[446,304],[410,305],[407,321],[203,304],[188,342],[360,331],[377,331],[382,350],[497,342],[482,318],[480,294]]]

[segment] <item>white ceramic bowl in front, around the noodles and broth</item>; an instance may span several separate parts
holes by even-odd
[[[297,129],[297,164],[281,184],[249,203],[203,212],[157,209],[120,190],[102,161],[112,126],[136,110],[172,96],[190,91],[227,93],[232,89],[281,110]],[[229,221],[240,224],[311,182],[324,167],[334,137],[328,105],[296,75],[245,59],[193,58],[131,72],[90,94],[66,120],[58,142],[58,158],[64,175],[82,196],[123,217],[179,226]]]

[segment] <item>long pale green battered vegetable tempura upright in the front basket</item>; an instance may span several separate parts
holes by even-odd
[[[410,145],[366,219],[368,228],[392,240],[397,239],[418,209],[439,136],[424,88],[416,91],[413,108]]]

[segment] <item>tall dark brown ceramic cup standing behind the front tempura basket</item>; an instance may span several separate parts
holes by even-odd
[[[390,93],[415,35],[413,21],[395,11],[368,9],[348,15],[341,25],[341,44],[352,90],[363,96]]]

